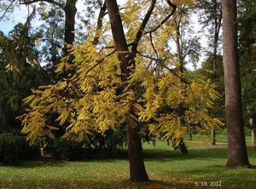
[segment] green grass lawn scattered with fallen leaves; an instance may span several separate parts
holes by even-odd
[[[189,155],[184,156],[165,142],[143,144],[148,183],[128,181],[127,159],[105,159],[0,166],[0,188],[256,188],[256,169],[224,168],[226,145],[187,145]],[[256,150],[248,146],[248,153],[256,165]]]

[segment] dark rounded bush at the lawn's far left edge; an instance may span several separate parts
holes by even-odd
[[[28,143],[24,136],[12,133],[0,134],[0,162],[17,165],[28,151]]]

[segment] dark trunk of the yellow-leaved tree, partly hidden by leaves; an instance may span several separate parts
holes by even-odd
[[[132,67],[134,60],[131,60],[132,56],[126,43],[124,28],[116,0],[106,0],[106,5],[108,9],[108,16],[113,34],[115,49],[119,52],[118,57],[122,72],[121,79],[124,83],[123,89],[125,89],[128,77],[131,75],[134,69]],[[138,126],[132,127],[129,123],[127,127],[130,179],[131,181],[148,181],[148,175],[143,162],[143,147],[139,134],[140,129]]]

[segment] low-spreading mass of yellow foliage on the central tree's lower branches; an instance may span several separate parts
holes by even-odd
[[[90,42],[79,45],[73,54],[76,64],[62,62],[57,71],[65,67],[78,70],[77,74],[55,85],[34,89],[25,100],[31,108],[21,117],[22,133],[32,143],[45,136],[54,138],[53,131],[57,126],[50,125],[47,119],[54,113],[57,114],[56,121],[65,129],[64,137],[73,140],[84,140],[94,133],[104,135],[108,129],[116,129],[127,119],[131,124],[148,123],[154,119],[157,123],[151,124],[150,132],[166,139],[172,138],[173,134],[182,135],[184,129],[177,129],[174,112],[160,114],[165,104],[172,109],[180,100],[187,100],[189,106],[184,116],[187,123],[198,122],[205,127],[215,127],[220,123],[207,116],[207,108],[212,106],[212,100],[218,98],[209,82],[198,80],[183,86],[180,83],[176,85],[178,78],[172,72],[155,76],[152,70],[147,69],[148,62],[142,59],[137,60],[140,62],[128,87],[132,83],[140,83],[142,89],[138,91],[144,91],[143,94],[131,90],[119,94],[121,84],[116,54],[103,59],[104,54],[98,54]],[[180,88],[186,91],[186,96],[178,93]],[[131,108],[138,119],[131,117]]]

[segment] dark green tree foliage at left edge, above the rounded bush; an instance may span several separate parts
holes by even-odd
[[[38,65],[38,51],[34,43],[37,33],[29,33],[29,21],[18,24],[5,36],[0,33],[0,125],[12,130],[20,123],[15,120],[22,111],[22,99],[31,88],[47,82],[46,72]]]

